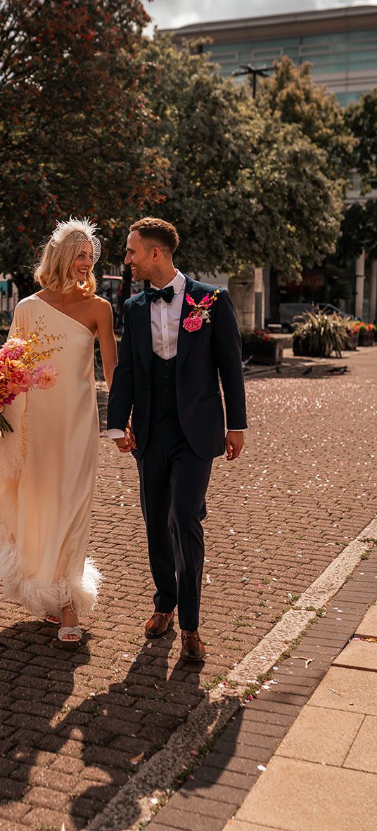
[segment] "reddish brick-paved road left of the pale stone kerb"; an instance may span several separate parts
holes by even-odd
[[[377,349],[345,363],[302,377],[290,358],[246,381],[246,452],[215,460],[207,500],[202,669],[179,661],[179,632],[144,640],[136,468],[102,439],[90,550],[105,582],[87,636],[67,650],[2,603],[0,831],[83,828],[377,514]]]

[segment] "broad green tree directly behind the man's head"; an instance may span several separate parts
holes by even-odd
[[[327,154],[194,49],[161,38],[149,47],[155,142],[171,164],[160,214],[178,226],[180,262],[209,273],[272,263],[298,278],[339,230],[341,185]]]

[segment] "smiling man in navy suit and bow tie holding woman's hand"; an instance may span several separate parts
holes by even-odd
[[[146,637],[163,635],[177,606],[181,657],[198,661],[206,655],[197,631],[206,489],[214,457],[226,450],[235,460],[241,453],[246,403],[231,299],[174,267],[178,242],[174,225],[162,219],[131,225],[125,263],[134,280],[149,280],[151,288],[124,306],[107,427],[118,449],[135,455],[140,475],[156,584]]]

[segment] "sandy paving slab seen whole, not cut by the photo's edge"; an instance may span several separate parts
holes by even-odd
[[[363,722],[361,713],[304,707],[276,753],[327,765],[342,765]]]

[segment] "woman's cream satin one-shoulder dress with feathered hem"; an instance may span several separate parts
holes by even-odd
[[[71,605],[87,615],[101,575],[87,556],[99,425],[94,337],[36,294],[17,304],[10,334],[42,322],[59,337],[47,361],[57,384],[17,396],[0,435],[0,579],[6,599],[36,617]]]

